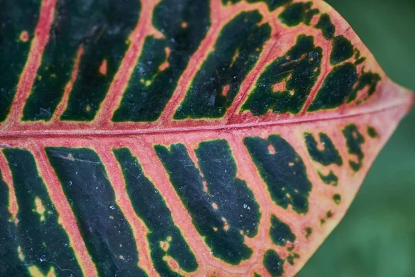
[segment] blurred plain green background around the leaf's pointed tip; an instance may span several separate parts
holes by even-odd
[[[327,0],[392,80],[415,90],[415,0]],[[380,152],[349,212],[297,277],[415,277],[415,112]]]

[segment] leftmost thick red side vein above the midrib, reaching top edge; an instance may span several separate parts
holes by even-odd
[[[49,39],[50,26],[53,23],[55,4],[57,0],[43,0],[40,9],[39,22],[35,28],[35,37],[30,44],[28,60],[17,84],[16,96],[12,101],[10,113],[4,125],[14,125],[19,122],[24,105],[33,87],[37,69],[42,62],[44,48]]]

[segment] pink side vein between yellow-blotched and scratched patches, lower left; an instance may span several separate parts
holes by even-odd
[[[86,250],[84,240],[82,240],[82,235],[77,227],[77,222],[73,215],[73,211],[71,210],[71,206],[69,206],[59,179],[57,179],[57,176],[46,157],[44,145],[42,145],[42,142],[38,141],[37,145],[33,146],[30,150],[37,161],[39,174],[44,177],[43,180],[48,188],[50,199],[55,205],[57,213],[59,213],[59,224],[61,224],[66,233],[68,233],[71,247],[75,252],[82,273],[84,276],[98,276],[95,265]]]

